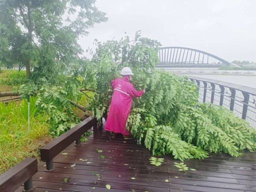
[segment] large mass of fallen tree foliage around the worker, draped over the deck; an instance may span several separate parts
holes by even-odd
[[[240,156],[242,149],[255,151],[255,130],[227,109],[198,102],[198,88],[185,76],[154,68],[158,62],[154,40],[140,33],[130,40],[97,42],[91,62],[82,63],[76,74],[85,89],[95,95],[89,107],[97,119],[107,116],[112,90],[110,81],[123,66],[130,66],[137,89],[149,88],[133,99],[127,129],[155,155],[174,158],[205,158],[209,152]]]

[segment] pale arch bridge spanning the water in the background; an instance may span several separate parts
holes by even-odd
[[[211,53],[181,46],[161,47],[157,67],[219,67],[231,63]]]

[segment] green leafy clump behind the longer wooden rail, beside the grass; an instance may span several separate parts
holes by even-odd
[[[68,101],[69,97],[78,100],[79,90],[75,84],[53,85],[44,82],[43,85],[33,83],[21,85],[20,93],[23,97],[37,95],[36,105],[40,111],[48,114],[48,123],[51,125],[49,132],[58,136],[79,122],[79,118],[73,111],[73,105]]]

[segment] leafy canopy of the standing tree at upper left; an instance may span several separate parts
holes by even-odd
[[[78,37],[106,19],[95,0],[1,0],[0,63],[53,79],[82,52]]]

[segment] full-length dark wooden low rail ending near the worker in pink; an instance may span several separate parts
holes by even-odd
[[[46,162],[46,170],[51,171],[54,169],[53,157],[65,149],[69,144],[75,141],[75,145],[80,146],[80,136],[92,126],[96,129],[97,120],[95,117],[90,116],[45,146],[41,147],[40,157],[42,161]]]

